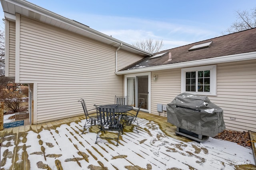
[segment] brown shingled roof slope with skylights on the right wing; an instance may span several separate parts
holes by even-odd
[[[194,45],[207,43],[209,41],[213,41],[210,47],[188,51],[188,49]],[[121,70],[132,70],[136,68],[182,63],[187,61],[210,59],[214,57],[222,57],[241,53],[250,53],[256,51],[255,44],[256,28],[253,28],[166,50],[166,52],[168,51],[172,55],[172,60],[170,61],[168,61],[169,54],[166,53],[164,56],[155,59],[150,59],[152,56],[146,57],[134,64],[131,64],[130,66],[122,68]],[[163,51],[159,53],[163,53]]]

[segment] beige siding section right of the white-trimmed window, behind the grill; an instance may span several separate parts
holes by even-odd
[[[209,98],[224,110],[227,129],[256,131],[256,60],[218,64],[217,97]]]

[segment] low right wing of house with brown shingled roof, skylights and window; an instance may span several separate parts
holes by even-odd
[[[161,51],[116,74],[124,75],[127,89],[131,77],[151,77],[146,99],[151,114],[166,116],[159,105],[188,92],[206,95],[221,107],[227,129],[256,131],[255,44],[256,28],[248,29]]]

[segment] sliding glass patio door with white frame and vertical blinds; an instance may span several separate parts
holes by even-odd
[[[127,104],[138,107],[143,102],[142,109],[149,106],[149,75],[128,75],[125,77]]]

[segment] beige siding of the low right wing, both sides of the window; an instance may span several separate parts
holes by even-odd
[[[157,104],[168,104],[180,94],[180,69],[152,72],[151,76],[151,113],[159,115]],[[256,131],[256,60],[217,64],[217,96],[208,98],[223,109],[226,129]],[[167,116],[165,112],[160,115]]]

